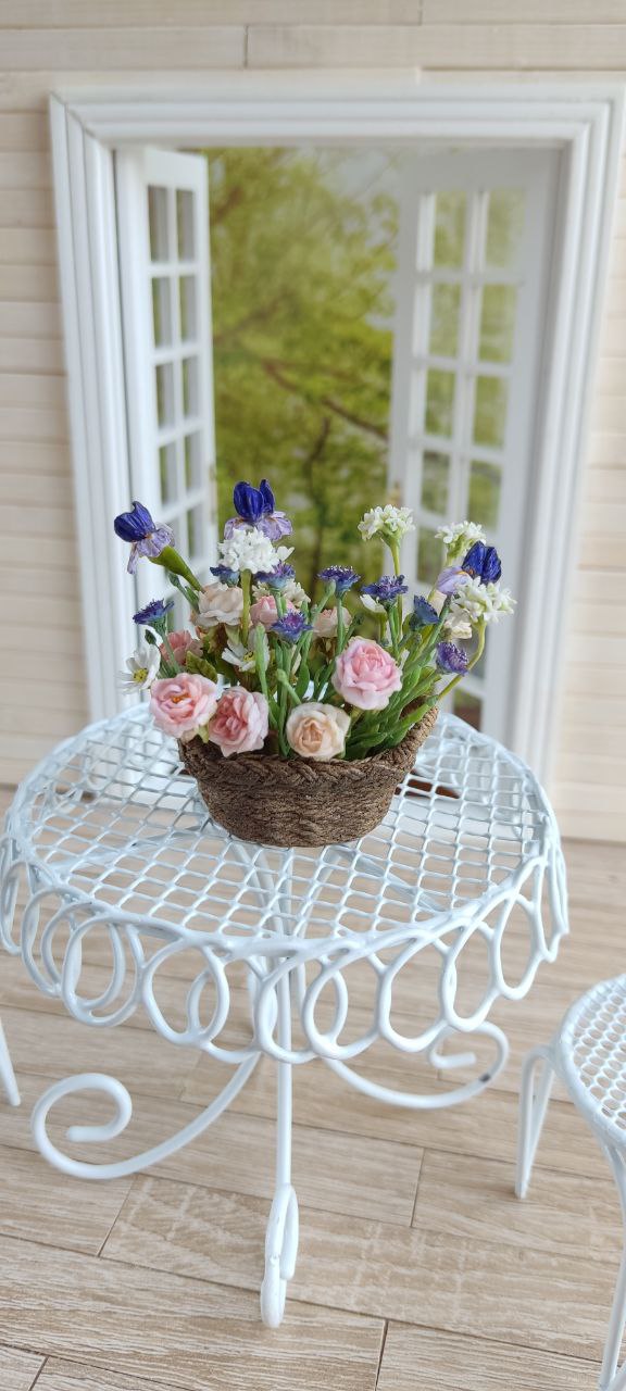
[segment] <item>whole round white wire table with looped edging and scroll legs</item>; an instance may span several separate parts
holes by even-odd
[[[512,914],[523,914],[527,925],[527,957],[515,981],[502,964]],[[211,821],[195,783],[181,772],[174,741],[154,729],[145,707],[89,726],[43,759],[18,789],[0,842],[1,940],[21,954],[40,990],[63,999],[74,1018],[99,1027],[121,1024],[143,1006],[163,1038],[231,1068],[223,1091],[193,1123],[109,1164],[58,1149],[47,1114],[71,1092],[109,1093],[113,1121],[68,1131],[70,1142],[102,1142],[128,1124],[128,1091],[104,1072],[54,1084],[33,1111],[35,1138],[50,1163],[85,1178],[136,1173],[211,1124],[263,1054],[275,1060],[277,1173],[262,1285],[262,1316],[270,1327],[282,1319],[298,1248],[294,1066],[323,1059],[362,1092],[416,1110],[476,1096],[508,1054],[505,1034],[488,1018],[494,1002],[522,999],[540,963],[555,960],[566,931],[563,861],[545,793],[519,758],[445,715],[384,822],[351,844],[277,850],[230,836]],[[109,943],[111,967],[95,997],[81,979],[83,947],[97,933]],[[463,1013],[459,968],[477,936],[484,988]],[[398,978],[426,949],[434,949],[438,961],[431,1020],[399,1032]],[[196,963],[185,982],[182,1024],[168,1020],[159,997],[159,974],[178,953]],[[356,1034],[349,1028],[353,968],[371,972],[373,985],[371,1011]],[[238,979],[243,974],[249,992],[250,1038],[241,1046],[220,1042],[235,972]],[[473,1052],[442,1052],[447,1039],[465,1035],[488,1040],[494,1057],[487,1068]],[[423,1054],[434,1079],[451,1063],[476,1064],[476,1075],[423,1095],[385,1088],[351,1066],[378,1039]],[[0,1074],[17,1102],[1,1034]]]

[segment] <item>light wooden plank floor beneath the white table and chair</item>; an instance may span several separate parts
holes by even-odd
[[[529,1199],[512,1192],[520,1057],[576,995],[623,970],[625,851],[572,842],[566,854],[572,938],[527,1000],[498,1007],[512,1060],[490,1092],[410,1113],[346,1091],[323,1064],[298,1070],[300,1252],[277,1333],[257,1316],[273,1066],[263,1061],[227,1116],[150,1173],[64,1178],[28,1124],[53,1078],[99,1070],[125,1081],[135,1116],[109,1148],[117,1157],[191,1120],[220,1067],[164,1043],[142,1017],[114,1031],[72,1022],[3,957],[24,1104],[0,1103],[1,1391],[591,1391],[620,1221],[602,1157],[563,1093]],[[90,970],[97,983],[103,963]],[[171,1002],[175,989],[164,982]],[[424,970],[416,1007],[431,989]],[[366,1018],[364,995],[358,1008]],[[410,1015],[410,992],[401,1008]],[[452,1085],[420,1060],[408,1074],[381,1045],[369,1066],[394,1086]],[[83,1104],[64,1103],[65,1123]],[[96,1102],[89,1120],[104,1111]]]

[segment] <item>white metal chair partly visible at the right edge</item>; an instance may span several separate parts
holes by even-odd
[[[524,1059],[515,1189],[524,1198],[554,1077],[591,1125],[618,1184],[625,1246],[600,1373],[600,1391],[625,1391],[619,1351],[626,1324],[626,975],[602,981],[568,1010],[548,1045]]]

